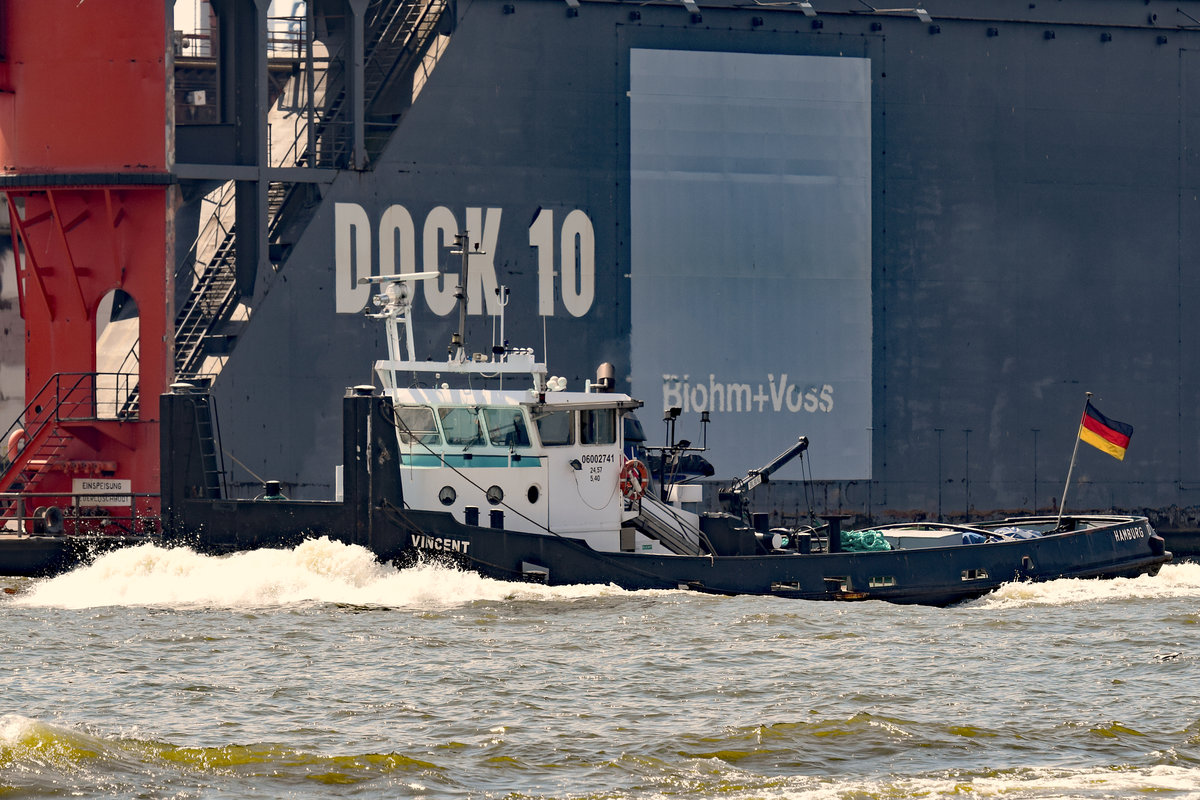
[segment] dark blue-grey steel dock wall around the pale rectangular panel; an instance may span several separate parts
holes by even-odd
[[[1068,509],[1195,505],[1200,40],[1150,26],[1147,8],[1175,17],[1160,4],[1022,5],[1042,17],[1030,22],[1009,6],[956,4],[960,18],[931,32],[900,14],[823,12],[814,29],[763,8],[704,7],[692,23],[676,5],[584,4],[569,17],[552,0],[511,14],[499,0],[460,4],[449,49],[384,156],[342,174],[284,269],[260,279],[270,289],[217,386],[227,449],[298,495],[332,493],[341,387],[367,380],[383,354],[372,323],[334,311],[335,203],[366,215],[372,260],[380,219],[402,206],[419,267],[446,264],[432,248],[420,257],[436,209],[458,225],[470,207],[499,209],[487,258],[514,289],[509,338],[539,349],[541,320],[514,313],[539,301],[544,248],[530,228],[552,211],[557,252],[566,216],[583,211],[595,291],[575,317],[556,277],[552,371],[578,385],[607,360],[629,375],[631,49],[852,56],[870,59],[871,80],[874,480],[823,485],[818,509],[1049,507],[1087,390],[1135,434],[1121,463],[1080,452]],[[487,325],[473,320],[482,349]],[[440,351],[452,318],[430,321]],[[836,446],[814,440],[812,457]],[[794,487],[762,492],[775,511],[806,505]]]

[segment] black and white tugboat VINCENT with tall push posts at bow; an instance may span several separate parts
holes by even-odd
[[[467,275],[467,237],[458,236]],[[277,493],[227,499],[211,461],[210,403],[176,385],[161,397],[162,535],[223,553],[330,536],[379,559],[438,559],[504,581],[625,589],[690,589],[804,600],[947,604],[1013,581],[1156,572],[1171,558],[1144,517],[1014,517],[952,525],[910,523],[842,530],[842,518],[770,529],[749,493],[802,457],[800,437],[778,458],[721,492],[725,510],[695,510],[698,485],[670,464],[697,450],[659,447],[647,467],[635,415],[613,391],[611,368],[582,391],[552,377],[533,350],[503,339],[468,355],[464,309],[444,361],[414,353],[412,289],[438,272],[364,278],[378,284],[388,355],[382,390],[355,386],[343,401],[337,498],[293,501]],[[500,305],[506,306],[503,287]],[[484,387],[486,386],[486,387]]]

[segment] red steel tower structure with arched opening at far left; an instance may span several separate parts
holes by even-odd
[[[167,0],[0,5],[0,191],[28,401],[0,443],[0,507],[26,530],[146,530],[158,517],[158,396],[173,374],[168,12]],[[114,299],[137,309],[115,360],[97,356]]]

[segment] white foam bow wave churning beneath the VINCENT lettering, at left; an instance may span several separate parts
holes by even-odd
[[[25,607],[167,606],[263,608],[307,602],[355,606],[455,606],[488,600],[571,600],[622,594],[613,587],[539,587],[482,578],[445,566],[379,564],[354,545],[308,540],[293,549],[224,557],[140,545],[34,583],[13,596]]]

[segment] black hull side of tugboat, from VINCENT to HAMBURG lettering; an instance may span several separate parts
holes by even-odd
[[[575,539],[463,525],[449,515],[394,510],[374,549],[388,560],[449,560],[502,581],[690,589],[800,600],[949,604],[1014,581],[1154,573],[1171,554],[1145,518],[1028,540],[866,553],[658,555],[605,553]],[[1010,521],[1019,523],[1020,521]]]

